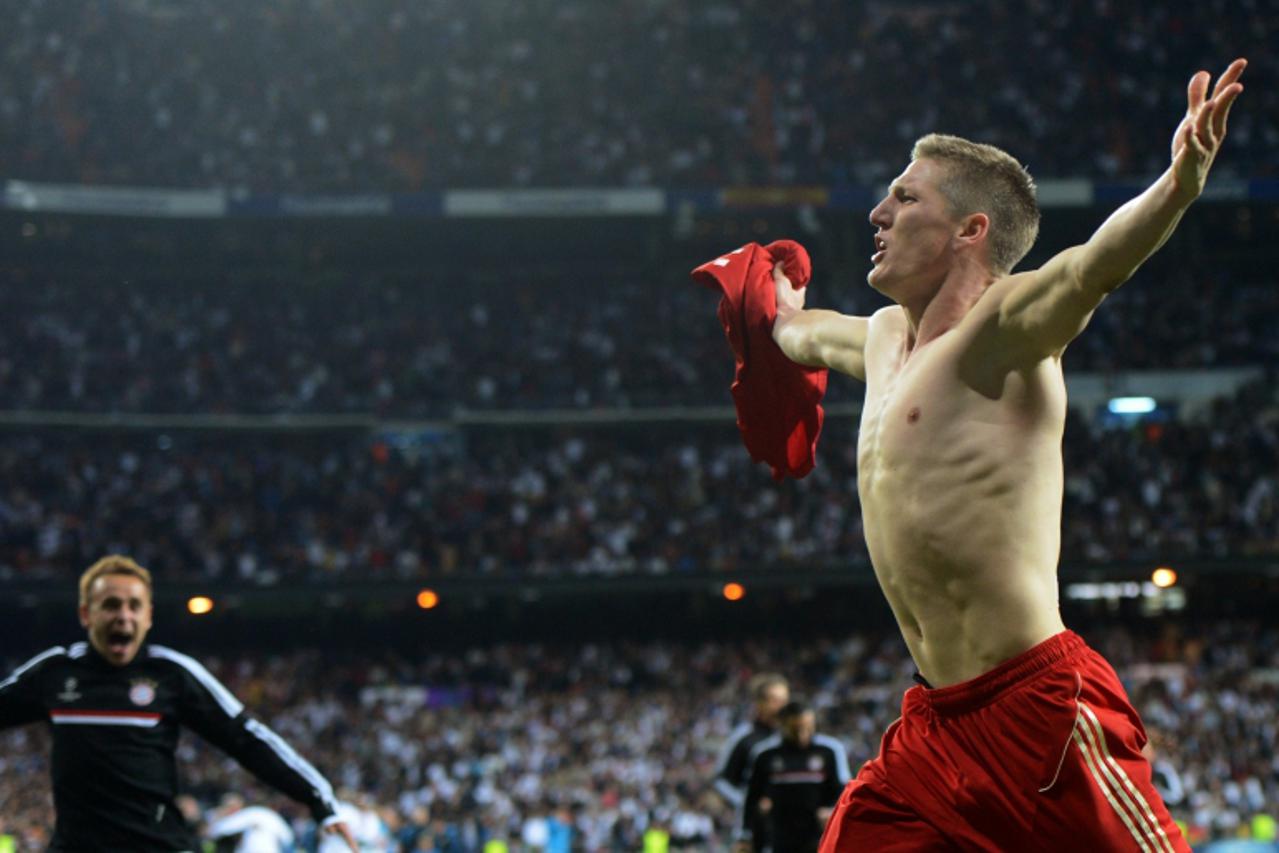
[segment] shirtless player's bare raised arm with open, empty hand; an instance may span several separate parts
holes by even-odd
[[[1010,276],[1000,302],[1000,330],[1037,358],[1060,354],[1101,301],[1168,240],[1204,192],[1230,106],[1243,91],[1238,79],[1246,65],[1243,59],[1230,63],[1211,97],[1207,72],[1191,78],[1168,170],[1111,214],[1087,243],[1065,249],[1039,270]]]

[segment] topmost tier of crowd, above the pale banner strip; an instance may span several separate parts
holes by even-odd
[[[1266,55],[1279,6],[22,0],[6,24],[8,178],[358,192],[871,184],[927,130],[1150,174],[1187,69]],[[1250,92],[1220,173],[1274,174],[1276,97]]]

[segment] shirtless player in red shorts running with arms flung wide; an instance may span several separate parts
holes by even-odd
[[[925,685],[840,797],[821,850],[1189,850],[1110,666],[1058,607],[1062,353],[1204,189],[1243,87],[1189,83],[1172,166],[1085,243],[1012,274],[1039,231],[1009,155],[927,136],[871,211],[871,317],[804,311],[774,339],[866,382],[866,545]]]

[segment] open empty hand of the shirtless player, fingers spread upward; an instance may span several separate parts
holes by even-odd
[[[1186,118],[1173,134],[1173,179],[1178,193],[1187,201],[1198,198],[1204,192],[1209,169],[1225,139],[1225,119],[1234,98],[1243,91],[1238,81],[1247,65],[1246,59],[1230,63],[1218,78],[1211,97],[1207,97],[1211,74],[1198,72],[1191,78],[1186,92]]]

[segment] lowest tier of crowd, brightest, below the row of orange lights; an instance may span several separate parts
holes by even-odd
[[[1192,841],[1232,838],[1279,808],[1279,633],[1239,622],[1154,634],[1086,630],[1115,662],[1155,744],[1156,776]],[[15,651],[15,650],[10,650]],[[32,650],[35,651],[35,650]],[[12,655],[10,655],[12,659]],[[9,665],[18,661],[9,660]],[[810,697],[853,767],[872,757],[913,671],[891,633],[748,642],[501,645],[425,651],[212,660],[255,714],[379,815],[379,850],[478,850],[490,838],[538,849],[559,820],[573,849],[636,850],[650,826],[671,847],[725,841],[732,810],[711,783],[716,753],[746,714],[746,680],[775,669]],[[0,831],[41,849],[51,825],[46,735],[0,734]],[[226,792],[294,818],[198,739],[179,758],[203,810]],[[521,847],[523,844],[523,847]]]

